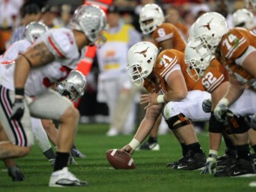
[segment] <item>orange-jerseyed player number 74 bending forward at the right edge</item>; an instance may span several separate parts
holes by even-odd
[[[249,151],[248,130],[250,126],[244,116],[254,115],[256,99],[254,93],[255,65],[252,62],[256,51],[255,35],[244,28],[229,30],[224,17],[216,18],[218,13],[205,13],[194,24],[194,37],[217,55],[217,59],[229,72],[229,87],[214,109],[218,121],[229,122],[235,139],[238,157],[235,165],[226,166],[215,176],[241,176],[255,174]],[[238,105],[243,110],[237,111]],[[229,110],[228,110],[229,109]]]

